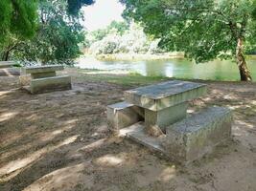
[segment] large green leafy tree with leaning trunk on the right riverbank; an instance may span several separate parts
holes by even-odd
[[[255,45],[255,0],[120,0],[124,15],[141,22],[167,51],[196,62],[235,58],[241,80],[251,80],[244,47]]]

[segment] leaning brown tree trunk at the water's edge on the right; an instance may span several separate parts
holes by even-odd
[[[236,59],[237,59],[237,65],[240,72],[241,81],[251,81],[252,77],[247,68],[245,58],[244,58],[242,38],[238,39]]]

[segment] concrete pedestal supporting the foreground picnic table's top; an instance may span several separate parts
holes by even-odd
[[[167,126],[187,116],[187,108],[188,102],[183,102],[160,111],[145,109],[145,127],[157,126],[165,132]]]

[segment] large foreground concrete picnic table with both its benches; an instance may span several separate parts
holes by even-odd
[[[228,108],[207,107],[187,117],[188,102],[206,92],[206,84],[179,80],[128,90],[125,101],[106,108],[109,129],[161,157],[181,163],[199,159],[231,138]]]

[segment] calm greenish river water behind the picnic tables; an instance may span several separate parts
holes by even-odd
[[[256,80],[256,58],[246,59],[252,77]],[[240,80],[238,67],[233,61],[215,60],[196,64],[184,58],[147,61],[102,61],[94,57],[81,57],[77,67],[97,69],[111,73],[138,73],[147,76],[168,76],[189,79]]]

